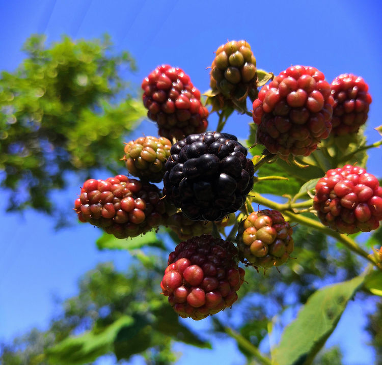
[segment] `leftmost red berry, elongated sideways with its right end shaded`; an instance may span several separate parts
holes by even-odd
[[[161,224],[166,212],[160,190],[152,184],[117,175],[85,181],[74,210],[81,222],[89,222],[117,238],[135,237]]]

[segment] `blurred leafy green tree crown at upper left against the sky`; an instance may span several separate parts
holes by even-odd
[[[66,172],[116,170],[123,136],[146,112],[120,76],[133,60],[113,55],[106,36],[50,47],[33,36],[23,50],[0,78],[0,183],[12,191],[8,210],[51,212],[49,193],[66,186]]]

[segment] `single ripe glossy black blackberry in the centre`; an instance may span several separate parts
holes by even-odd
[[[192,134],[171,147],[163,194],[192,220],[220,220],[243,205],[253,186],[247,149],[231,134]]]

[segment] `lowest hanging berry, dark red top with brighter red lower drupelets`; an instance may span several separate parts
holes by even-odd
[[[232,242],[202,235],[175,247],[160,287],[176,313],[200,320],[237,300],[244,273]]]

